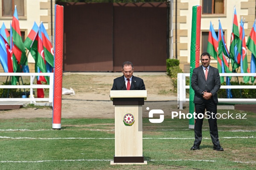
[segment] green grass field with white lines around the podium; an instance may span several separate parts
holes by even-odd
[[[110,165],[114,119],[62,119],[61,130],[46,118],[0,119],[0,170],[255,170],[256,113],[246,113],[247,119],[218,120],[223,152],[212,150],[206,119],[201,150],[190,150],[194,132],[187,119],[166,116],[156,125],[143,118],[147,165]]]

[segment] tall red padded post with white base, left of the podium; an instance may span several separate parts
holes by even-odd
[[[55,5],[52,129],[61,129],[63,6]]]

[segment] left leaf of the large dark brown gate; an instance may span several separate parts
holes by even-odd
[[[64,71],[113,71],[113,4],[64,6]]]

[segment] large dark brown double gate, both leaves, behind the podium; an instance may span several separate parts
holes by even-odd
[[[166,3],[64,6],[64,71],[166,71]]]

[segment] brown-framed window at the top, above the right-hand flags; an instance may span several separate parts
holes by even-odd
[[[224,0],[203,0],[202,14],[224,14]]]

